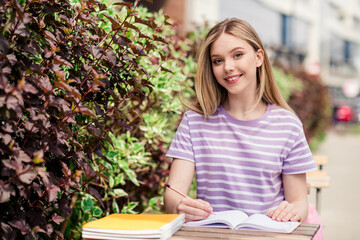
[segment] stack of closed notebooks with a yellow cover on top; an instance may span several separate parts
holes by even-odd
[[[111,214],[83,225],[85,239],[168,239],[184,223],[182,214]]]

